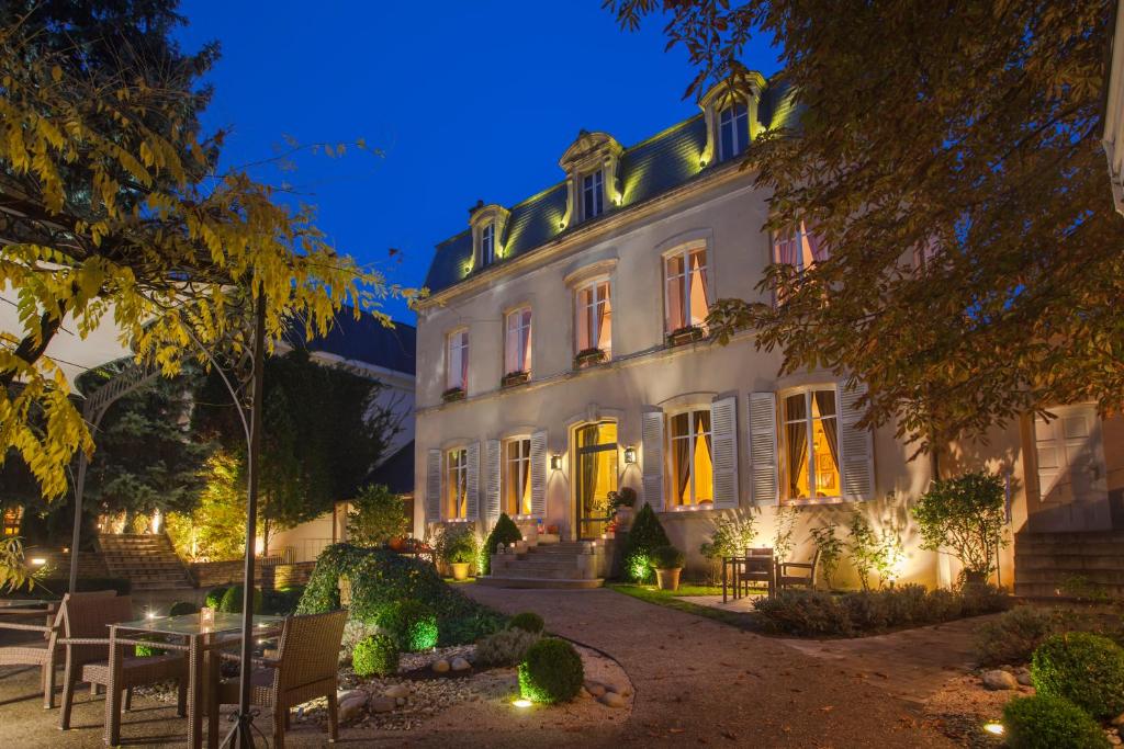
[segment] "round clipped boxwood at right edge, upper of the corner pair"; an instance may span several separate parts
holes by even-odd
[[[1031,677],[1041,695],[1064,697],[1094,718],[1124,712],[1124,649],[1099,634],[1054,634],[1034,651]]]

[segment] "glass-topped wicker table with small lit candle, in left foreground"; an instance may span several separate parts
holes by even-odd
[[[272,637],[281,631],[284,616],[254,616],[254,633],[259,637]],[[120,637],[124,634],[125,637]],[[162,634],[180,638],[185,645],[161,642],[166,650],[181,650],[188,654],[188,745],[192,749],[202,747],[203,709],[206,694],[203,685],[208,683],[210,667],[218,668],[217,658],[210,657],[210,650],[219,645],[237,640],[242,634],[242,614],[215,613],[210,624],[202,623],[201,614],[183,614],[181,616],[157,616],[154,619],[137,619],[109,625],[109,666],[115,674],[120,668],[123,648],[138,642],[152,645],[149,641],[130,639],[136,634]],[[216,663],[211,666],[210,661]],[[116,695],[116,700],[112,696]],[[106,689],[106,746],[120,743],[119,720],[115,720],[120,709],[120,689]]]

